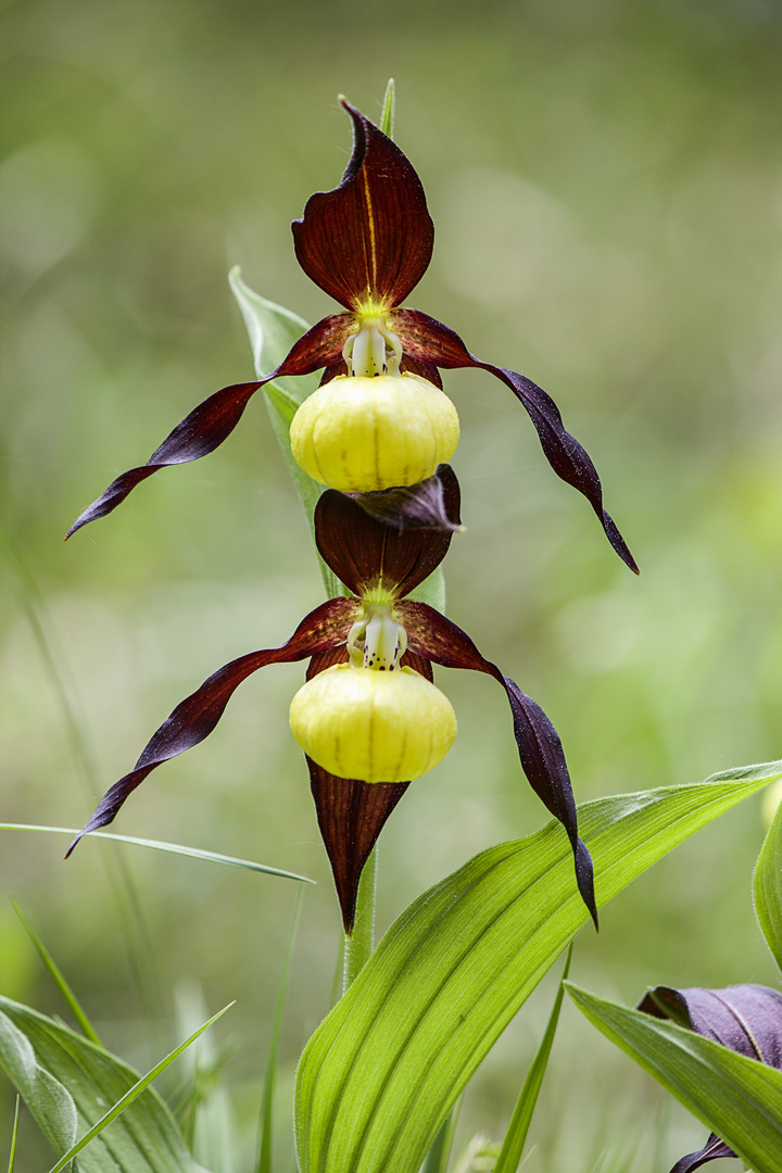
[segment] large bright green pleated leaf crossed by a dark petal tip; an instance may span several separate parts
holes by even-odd
[[[773,762],[582,806],[598,906],[778,777]],[[456,1097],[585,921],[558,822],[482,852],[416,900],[301,1057],[301,1173],[416,1173]]]

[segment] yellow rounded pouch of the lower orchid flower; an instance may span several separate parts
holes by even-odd
[[[299,689],[291,730],[304,752],[338,778],[406,782],[446,757],[456,717],[440,689],[409,667],[338,664]]]

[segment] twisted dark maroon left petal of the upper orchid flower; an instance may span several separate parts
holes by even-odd
[[[66,538],[75,534],[82,526],[98,517],[106,517],[121,504],[131,489],[145,481],[159,468],[169,465],[186,465],[191,460],[215,452],[242,419],[245,407],[259,387],[272,379],[293,374],[310,374],[320,369],[341,355],[342,346],[352,328],[347,314],[332,314],[324,318],[317,326],[308,330],[294,343],[287,358],[257,382],[238,382],[215,392],[203,404],[199,404],[182,423],[178,423],[145,465],[130,468],[127,473],[111,481],[108,489],[76,518],[66,534]]]

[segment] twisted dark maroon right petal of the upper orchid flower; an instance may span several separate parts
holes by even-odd
[[[584,494],[621,561],[633,574],[638,574],[635,560],[627,549],[624,537],[613,518],[603,508],[603,487],[597,469],[578,440],[565,430],[553,399],[525,375],[474,358],[458,334],[419,310],[396,310],[390,319],[390,328],[399,334],[406,354],[444,369],[476,367],[488,371],[510,387],[526,408],[544,455],[557,476]]]

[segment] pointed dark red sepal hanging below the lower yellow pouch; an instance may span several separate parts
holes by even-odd
[[[334,875],[346,933],[353,931],[363,865],[409,782],[359,782],[336,778],[307,758],[318,826]]]

